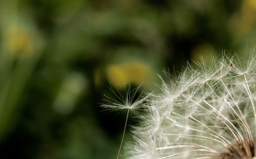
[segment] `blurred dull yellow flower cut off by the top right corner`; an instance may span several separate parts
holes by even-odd
[[[229,21],[229,30],[233,34],[247,34],[256,22],[256,1],[242,2],[241,11],[235,13]]]

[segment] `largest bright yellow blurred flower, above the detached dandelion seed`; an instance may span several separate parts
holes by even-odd
[[[108,81],[119,88],[127,83],[140,85],[150,83],[153,80],[153,71],[147,64],[141,62],[127,62],[107,67]]]

